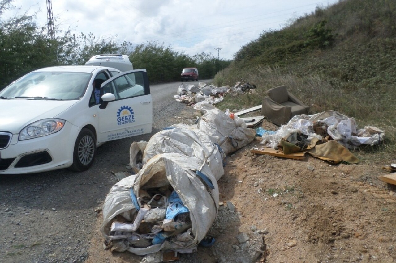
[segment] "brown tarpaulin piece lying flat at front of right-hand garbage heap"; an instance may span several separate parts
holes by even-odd
[[[359,159],[356,158],[347,148],[334,140],[328,141],[321,145],[316,145],[310,150],[306,150],[312,156],[326,160],[329,163],[337,164],[342,161],[348,163],[358,163]]]

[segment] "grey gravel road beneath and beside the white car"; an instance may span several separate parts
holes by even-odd
[[[148,141],[154,133],[174,124],[175,116],[194,112],[173,100],[179,85],[152,85],[152,133],[105,143],[98,148],[88,171],[1,175],[0,262],[84,262],[95,210],[118,181],[114,173],[127,170],[131,143]]]

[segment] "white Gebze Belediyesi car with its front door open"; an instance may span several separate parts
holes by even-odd
[[[151,132],[146,70],[117,70],[121,55],[105,60],[112,68],[42,68],[0,91],[0,174],[85,171],[103,143]],[[93,83],[102,83],[99,103]]]

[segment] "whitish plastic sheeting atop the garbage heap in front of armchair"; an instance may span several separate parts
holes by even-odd
[[[264,134],[261,144],[276,149],[282,138],[291,133],[300,132],[308,139],[319,140],[326,136],[339,142],[346,148],[356,148],[362,144],[378,145],[383,141],[384,132],[373,126],[357,129],[356,121],[337,111],[324,111],[314,115],[296,115],[274,134]]]

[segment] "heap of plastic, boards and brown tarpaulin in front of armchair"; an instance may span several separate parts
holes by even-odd
[[[378,145],[384,137],[384,132],[373,126],[357,130],[353,118],[337,111],[296,115],[274,133],[257,133],[262,136],[261,144],[268,148],[281,149],[285,155],[304,151],[331,164],[358,163],[348,149]]]

